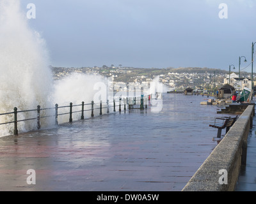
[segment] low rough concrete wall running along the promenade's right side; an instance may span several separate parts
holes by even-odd
[[[253,115],[254,106],[248,105],[182,191],[234,191],[241,165],[246,164]]]

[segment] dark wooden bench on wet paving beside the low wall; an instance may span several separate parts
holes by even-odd
[[[218,120],[218,121],[217,121]],[[226,134],[230,127],[233,126],[233,124],[236,122],[236,117],[216,117],[214,124],[209,125],[212,128],[218,128],[217,138],[221,137],[221,130],[226,128]]]

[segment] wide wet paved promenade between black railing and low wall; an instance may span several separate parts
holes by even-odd
[[[209,124],[218,107],[205,99],[163,94],[160,112],[122,110],[0,138],[0,190],[180,191],[217,145]]]

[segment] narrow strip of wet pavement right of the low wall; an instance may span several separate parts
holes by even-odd
[[[248,135],[246,166],[240,171],[236,191],[256,191],[256,117]]]

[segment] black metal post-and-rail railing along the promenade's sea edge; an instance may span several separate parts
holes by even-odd
[[[15,107],[13,108],[13,112],[0,113],[0,117],[3,115],[13,115],[12,121],[3,122],[3,123],[0,123],[0,125],[13,123],[14,124],[13,135],[18,135],[18,122],[36,120],[36,128],[40,129],[41,128],[40,119],[49,118],[49,117],[54,117],[55,124],[58,125],[58,116],[60,115],[69,115],[68,122],[72,122],[73,121],[72,116],[74,113],[81,113],[81,120],[84,120],[84,112],[88,112],[88,111],[91,112],[90,116],[94,117],[95,110],[99,110],[99,115],[102,115],[103,109],[107,109],[106,113],[109,113],[109,108],[113,108],[113,112],[116,112],[116,108],[119,107],[119,112],[121,112],[122,106],[124,106],[124,109],[123,109],[124,111],[127,109],[143,110],[144,108],[147,108],[148,101],[150,101],[150,96],[152,97],[152,94],[148,96],[138,96],[138,97],[123,98],[123,99],[119,98],[118,99],[119,103],[118,102],[116,103],[116,99],[113,99],[113,101],[109,102],[109,100],[107,100],[105,103],[102,103],[102,101],[100,101],[100,103],[94,103],[94,101],[92,101],[92,103],[84,103],[83,101],[79,105],[73,105],[73,103],[70,103],[67,106],[58,106],[58,104],[56,104],[54,108],[41,108],[40,105],[38,105],[36,109],[32,109],[32,110],[18,111],[18,108]],[[95,107],[95,105],[97,105],[97,107]],[[74,110],[74,107],[79,107],[79,106],[81,106],[80,110]],[[88,106],[90,107],[87,108]],[[61,110],[62,108],[69,108],[69,111],[64,113],[59,113],[59,110]],[[54,113],[54,112],[55,113],[50,115],[42,115],[41,113],[43,110],[52,110],[51,113]],[[26,113],[26,112],[36,112],[35,117],[18,120],[19,113]]]

